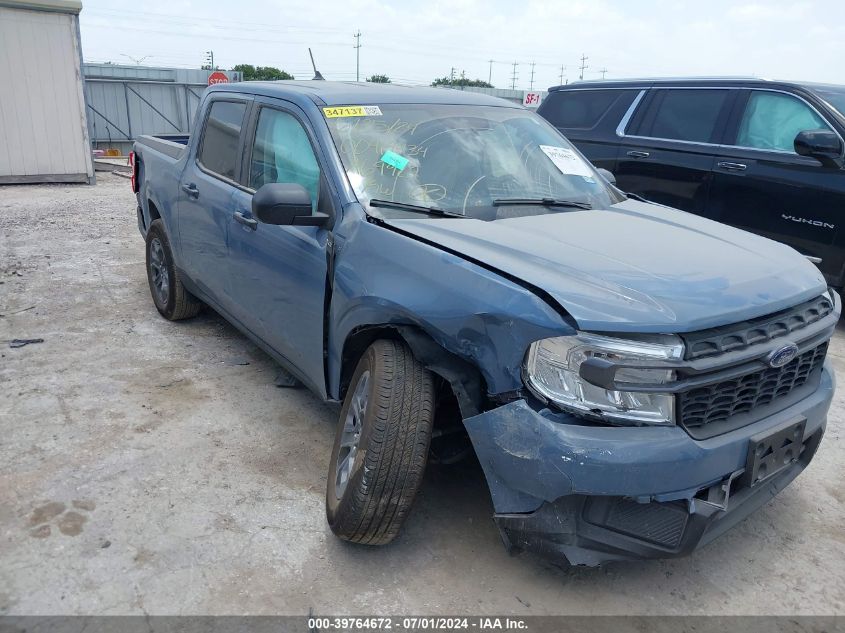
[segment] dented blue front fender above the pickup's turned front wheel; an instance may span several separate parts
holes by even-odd
[[[338,228],[328,323],[329,394],[336,399],[344,343],[361,328],[418,328],[478,368],[489,394],[522,388],[522,362],[533,341],[575,332],[559,307],[530,289],[368,222],[358,205]]]

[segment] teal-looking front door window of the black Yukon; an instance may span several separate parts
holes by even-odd
[[[795,137],[804,130],[830,128],[800,99],[780,92],[755,90],[739,124],[736,145],[794,152]]]

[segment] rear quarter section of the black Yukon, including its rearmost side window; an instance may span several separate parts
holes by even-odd
[[[537,113],[554,125],[596,167],[616,168],[616,127],[641,90],[628,88],[552,91]]]

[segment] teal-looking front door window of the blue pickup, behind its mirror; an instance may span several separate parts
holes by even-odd
[[[258,190],[268,182],[292,182],[311,194],[317,208],[320,167],[308,135],[292,115],[262,108],[255,128],[249,167],[249,186]]]

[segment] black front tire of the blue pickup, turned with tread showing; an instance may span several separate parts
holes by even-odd
[[[362,390],[368,400],[344,485],[341,461],[351,449],[341,443],[356,427],[347,422],[360,410],[355,401]],[[340,410],[329,463],[326,518],[337,536],[384,545],[399,533],[425,472],[434,405],[434,378],[407,346],[378,340],[367,348]]]

